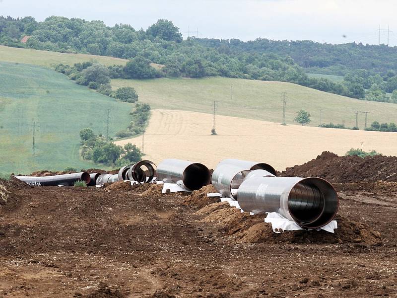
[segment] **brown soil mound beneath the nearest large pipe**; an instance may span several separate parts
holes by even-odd
[[[214,203],[196,212],[204,215],[201,222],[215,224],[219,232],[233,235],[239,242],[247,243],[378,243],[381,234],[368,224],[351,221],[344,217],[336,217],[338,228],[335,233],[324,230],[298,230],[274,233],[271,224],[264,222],[265,214],[251,216],[241,213],[227,202]],[[214,205],[214,206],[212,206]]]

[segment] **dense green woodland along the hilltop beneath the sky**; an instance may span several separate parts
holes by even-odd
[[[24,35],[31,36],[26,44]],[[182,39],[171,21],[159,19],[146,30],[128,24],[50,16],[0,17],[0,43],[63,53],[85,53],[130,59],[110,76],[123,78],[225,76],[297,83],[353,98],[396,102],[397,48],[362,44],[257,39]],[[147,67],[163,65],[161,70]],[[309,77],[306,72],[344,75],[342,82]],[[357,80],[363,77],[364,80]],[[381,78],[382,81],[379,80]],[[368,81],[371,83],[368,84]]]

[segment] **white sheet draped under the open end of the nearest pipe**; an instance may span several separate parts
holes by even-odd
[[[267,217],[265,218],[265,223],[271,224],[271,228],[275,233],[282,233],[283,231],[295,231],[295,230],[303,230],[304,228],[300,227],[297,223],[290,221],[283,217],[281,214],[277,212],[266,212]],[[329,224],[326,224],[320,228],[316,228],[316,230],[326,230],[327,232],[334,233],[334,229],[338,227],[336,221],[331,221]],[[313,228],[309,228],[312,230]]]

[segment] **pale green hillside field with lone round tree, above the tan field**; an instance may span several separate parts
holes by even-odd
[[[233,84],[233,100],[231,99]],[[150,103],[152,109],[175,109],[212,113],[217,101],[217,113],[243,118],[281,123],[283,92],[286,92],[286,123],[293,124],[296,112],[305,109],[311,114],[310,125],[343,123],[355,126],[355,110],[369,111],[368,124],[397,123],[397,104],[352,99],[300,85],[258,80],[211,77],[202,79],[113,79],[114,88],[132,86],[139,100]],[[359,113],[358,124],[364,128],[365,116]],[[296,124],[296,123],[295,123]]]

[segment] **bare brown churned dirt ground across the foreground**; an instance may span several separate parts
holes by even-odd
[[[272,233],[205,191],[2,184],[0,297],[396,297],[397,209],[349,199],[361,185],[338,185],[331,235]]]

